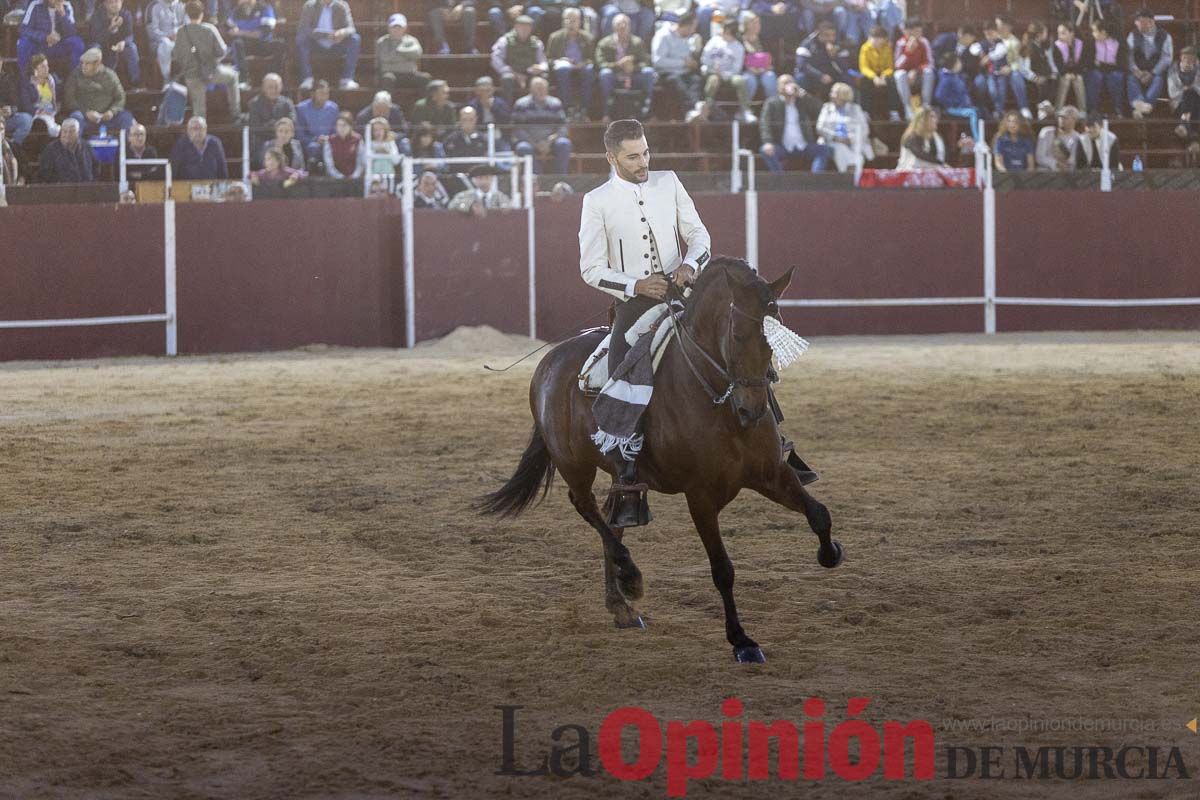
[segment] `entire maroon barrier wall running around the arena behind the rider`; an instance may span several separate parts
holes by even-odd
[[[997,193],[997,294],[1200,296],[1187,231],[1192,192]],[[745,252],[742,196],[696,204],[716,253]],[[539,201],[538,332],[605,323],[606,296],[578,277],[582,198]],[[788,297],[983,294],[977,192],[761,193],[760,264],[791,265]],[[414,212],[418,339],[457,325],[528,331],[524,211],[476,219]],[[176,209],[180,353],[312,343],[398,347],[404,338],[398,203],[332,199]],[[0,320],[161,313],[161,206],[13,206],[0,213]],[[588,317],[595,317],[588,320]],[[787,308],[805,336],[973,332],[980,306]],[[998,327],[1200,327],[1200,307],[1002,306]],[[163,325],[0,330],[0,360],[150,355]]]

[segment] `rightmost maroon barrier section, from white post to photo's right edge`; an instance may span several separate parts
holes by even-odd
[[[996,294],[1200,297],[1195,192],[1001,192]],[[1000,306],[1002,331],[1200,327],[1200,306]]]

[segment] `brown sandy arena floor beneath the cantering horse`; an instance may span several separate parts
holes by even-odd
[[[0,365],[0,798],[664,798],[509,777],[565,723],[800,722],[823,698],[950,745],[1157,744],[1189,781],[694,781],[688,796],[1196,798],[1196,335],[826,339],[784,374],[846,563],[743,494],[733,663],[682,498],[626,542],[648,630],[602,604],[562,483],[468,512],[529,434],[521,342]],[[475,353],[473,353],[475,351]],[[1134,733],[949,732],[1134,718]],[[595,758],[593,762],[594,766]]]

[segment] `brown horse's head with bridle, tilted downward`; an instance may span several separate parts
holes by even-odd
[[[768,409],[767,387],[770,381],[767,374],[772,351],[762,320],[768,315],[779,317],[779,296],[791,283],[794,270],[792,267],[775,281],[767,282],[745,261],[722,259],[722,263],[712,264],[701,273],[708,281],[697,281],[701,297],[694,296],[692,301],[698,300],[701,307],[689,317],[709,329],[706,338],[715,345],[715,355],[728,373],[732,384],[730,405],[743,427],[757,423]],[[709,271],[713,273],[706,276]],[[715,272],[720,272],[724,281]]]

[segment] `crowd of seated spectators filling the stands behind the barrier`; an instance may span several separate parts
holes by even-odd
[[[990,126],[998,169],[1070,170],[1117,166],[1104,119],[1145,119],[1163,101],[1174,134],[1200,152],[1195,49],[1177,48],[1152,11],[1126,24],[1106,0],[1055,2],[1045,23],[998,14],[936,34],[905,18],[896,0],[432,0],[428,52],[449,54],[454,40],[486,55],[472,96],[455,103],[450,85],[422,71],[425,46],[406,14],[392,13],[374,42],[374,95],[361,109],[334,100],[335,86],[359,89],[362,38],[346,0],[304,2],[287,41],[269,0],[138,2],[0,0],[19,26],[16,68],[0,74],[6,184],[25,180],[23,145],[34,131],[52,139],[36,160],[41,181],[97,180],[91,142],[118,131],[127,156],[154,157],[146,126],[185,119],[173,119],[173,101],[191,108],[168,154],[174,175],[227,178],[208,125],[212,88],[227,94],[233,122],[251,127],[257,185],[390,176],[413,157],[421,204],[470,213],[508,198],[494,169],[456,178],[446,158],[534,155],[539,169],[569,173],[571,124],[625,116],[755,126],[773,172],[862,167],[887,151],[881,122],[907,125],[900,169],[958,163]],[[253,88],[250,59],[266,68]],[[336,77],[317,77],[317,61],[335,65]],[[299,78],[293,97],[283,74]],[[136,120],[126,92],[151,86],[163,92],[158,119]],[[395,98],[413,91],[419,100],[402,109]],[[946,119],[965,130],[949,145]]]

